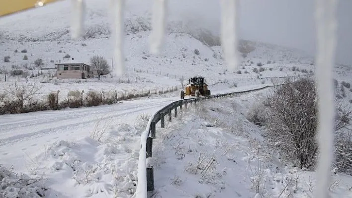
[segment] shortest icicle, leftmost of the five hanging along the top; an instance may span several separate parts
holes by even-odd
[[[83,18],[84,18],[83,0],[72,0],[72,19],[71,19],[71,37],[78,39],[83,32]]]

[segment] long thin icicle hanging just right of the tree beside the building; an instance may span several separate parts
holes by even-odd
[[[123,55],[123,14],[125,0],[112,0],[112,15],[113,15],[113,40],[114,40],[114,65],[112,75],[121,76],[125,72],[125,60]]]

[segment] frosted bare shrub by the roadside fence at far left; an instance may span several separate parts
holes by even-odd
[[[5,93],[18,102],[17,112],[21,113],[23,111],[24,101],[36,94],[41,88],[42,86],[40,86],[37,82],[25,86],[23,84],[19,85],[17,81],[15,81],[13,84],[8,85],[7,88],[4,87],[4,90]]]

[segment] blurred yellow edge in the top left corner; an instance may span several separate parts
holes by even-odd
[[[0,16],[34,7],[38,0],[0,0]],[[56,0],[41,0],[44,4]]]

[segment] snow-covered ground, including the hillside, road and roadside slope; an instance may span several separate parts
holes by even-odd
[[[277,84],[287,75],[315,73],[313,59],[304,52],[252,41],[243,45],[253,51],[243,53],[238,69],[229,71],[221,47],[215,45],[219,39],[177,17],[170,17],[162,53],[152,55],[149,4],[129,0],[126,73],[100,80],[57,79],[55,69],[40,68],[69,61],[66,55],[88,64],[94,55],[112,61],[107,0],[86,2],[85,37],[78,40],[70,39],[70,1],[0,18],[0,105],[1,94],[15,82],[38,83],[41,89],[33,96],[38,100],[60,90],[62,101],[74,90],[159,92],[179,88],[194,75],[204,76],[211,93],[217,94]],[[8,62],[2,62],[6,56]],[[35,66],[36,59],[44,64]],[[26,82],[23,75],[11,75],[14,69],[32,77]],[[351,76],[351,66],[335,66],[336,95],[349,107],[352,88],[342,83],[352,83]],[[276,158],[265,147],[264,127],[247,120],[248,112],[270,90],[192,105],[167,122],[165,129],[158,124],[152,196],[313,197],[315,173]],[[135,197],[140,139],[148,116],[178,99],[179,90],[99,107],[0,115],[0,198]],[[332,173],[332,177],[331,197],[352,197],[351,176]]]

